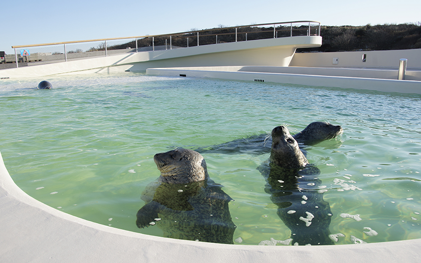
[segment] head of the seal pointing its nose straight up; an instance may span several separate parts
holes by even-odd
[[[269,161],[271,165],[288,169],[299,169],[309,164],[300,147],[298,147],[297,141],[285,126],[278,126],[272,130],[272,148]]]

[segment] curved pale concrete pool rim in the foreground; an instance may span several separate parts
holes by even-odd
[[[415,261],[421,239],[320,246],[231,245],[151,236],[94,223],[26,194],[0,153],[0,261]]]

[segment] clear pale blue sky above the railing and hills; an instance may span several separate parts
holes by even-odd
[[[299,20],[325,26],[421,22],[420,0],[2,0],[1,7],[0,51],[7,54],[14,54],[11,47],[17,45],[157,35],[219,25]]]

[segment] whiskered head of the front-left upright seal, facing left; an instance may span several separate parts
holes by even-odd
[[[193,150],[177,148],[157,153],[153,160],[161,172],[160,182],[189,183],[209,177],[203,156]]]

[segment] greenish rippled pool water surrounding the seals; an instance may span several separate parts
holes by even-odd
[[[162,235],[135,225],[140,194],[159,176],[155,153],[325,120],[344,134],[306,150],[327,190],[330,232],[344,235],[335,243],[420,237],[419,95],[131,73],[56,77],[44,91],[34,90],[39,81],[0,85],[0,149],[15,182],[59,210]],[[203,156],[235,199],[235,243],[289,238],[256,170],[268,154]]]

